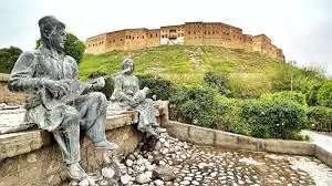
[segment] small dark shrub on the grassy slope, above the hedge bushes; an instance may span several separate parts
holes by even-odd
[[[225,73],[207,72],[204,74],[204,81],[214,89],[217,89],[221,95],[229,95],[231,91],[228,87],[229,76]]]

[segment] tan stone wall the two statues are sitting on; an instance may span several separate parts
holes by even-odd
[[[155,102],[155,107],[157,120],[163,125],[168,120],[167,102]],[[17,114],[17,117],[23,116],[23,112],[11,114]],[[10,118],[9,115],[6,114],[9,125],[14,125],[13,121],[22,121],[22,118]],[[142,133],[136,130],[137,121],[136,112],[107,115],[106,135],[110,141],[118,144],[120,156],[134,152],[142,141]],[[20,126],[14,131],[22,128],[29,130],[0,134],[0,186],[49,186],[68,182],[61,152],[52,134],[34,126],[25,128]],[[9,132],[8,128],[2,132],[4,131]],[[81,138],[82,166],[89,173],[101,169],[102,154],[103,151],[94,149],[86,137]]]

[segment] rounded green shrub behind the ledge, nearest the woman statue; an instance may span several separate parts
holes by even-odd
[[[169,99],[170,118],[198,126],[216,128],[220,114],[210,89],[181,89]]]

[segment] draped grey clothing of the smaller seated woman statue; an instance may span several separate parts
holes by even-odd
[[[147,125],[157,126],[155,117],[154,103],[151,99],[145,99],[133,107],[129,101],[125,97],[133,99],[135,93],[139,90],[138,79],[135,75],[120,74],[115,76],[114,92],[111,96],[110,111],[128,111],[135,110],[139,113],[138,130],[145,132]]]

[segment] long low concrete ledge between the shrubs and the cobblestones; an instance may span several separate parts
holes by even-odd
[[[314,144],[308,142],[255,138],[175,121],[168,121],[166,127],[170,135],[197,145],[280,154],[314,155]]]

